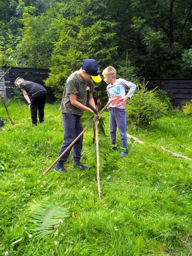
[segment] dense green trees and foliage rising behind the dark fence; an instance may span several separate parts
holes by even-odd
[[[83,58],[118,69],[128,52],[137,76],[191,76],[191,11],[192,0],[0,0],[0,65],[50,68],[57,96]]]

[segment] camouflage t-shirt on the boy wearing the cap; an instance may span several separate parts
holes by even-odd
[[[70,94],[77,94],[77,101],[85,105],[86,103],[86,87],[90,87],[90,93],[93,93],[93,81],[82,81],[76,72],[72,73],[65,84],[63,97],[61,100],[60,111],[62,113],[70,113],[73,115],[83,115],[83,110],[76,108],[70,102]]]

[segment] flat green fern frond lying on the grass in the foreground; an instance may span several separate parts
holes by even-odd
[[[53,232],[53,227],[61,219],[70,215],[68,208],[55,206],[47,199],[42,202],[34,201],[29,214],[34,218],[32,220],[35,224],[33,231],[35,231],[38,239],[46,239]]]

